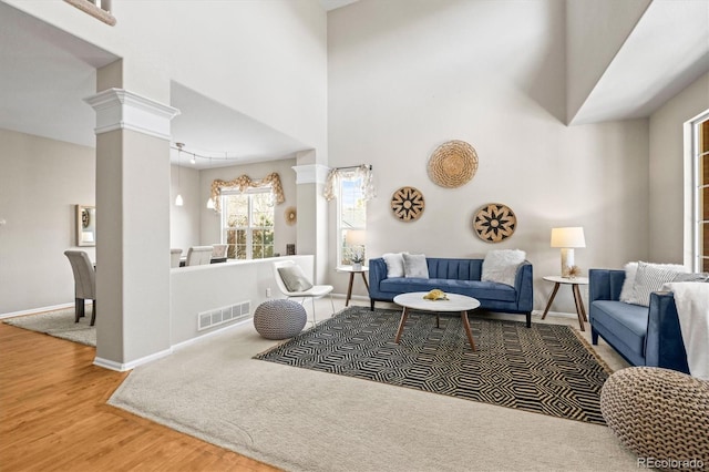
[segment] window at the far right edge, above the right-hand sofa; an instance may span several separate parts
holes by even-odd
[[[692,122],[693,270],[709,271],[709,111]]]

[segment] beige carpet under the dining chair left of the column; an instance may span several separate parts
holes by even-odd
[[[96,347],[96,328],[91,322],[91,305],[86,305],[86,316],[74,322],[74,308],[45,311],[7,318],[3,322],[31,331],[44,332],[55,338],[66,339],[81,345]]]

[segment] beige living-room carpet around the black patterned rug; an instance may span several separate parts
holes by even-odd
[[[607,427],[251,359],[274,343],[242,325],[138,367],[110,403],[291,471],[637,470]]]

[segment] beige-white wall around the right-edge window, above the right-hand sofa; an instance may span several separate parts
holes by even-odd
[[[654,261],[691,260],[691,158],[684,123],[709,110],[709,74],[650,116],[649,255]]]

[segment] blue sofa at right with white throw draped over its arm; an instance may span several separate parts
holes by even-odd
[[[625,270],[588,270],[588,321],[598,336],[633,366],[664,367],[689,373],[687,351],[671,293],[650,295],[650,307],[620,301]]]

